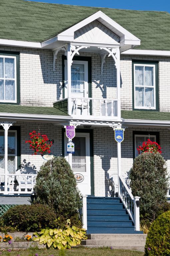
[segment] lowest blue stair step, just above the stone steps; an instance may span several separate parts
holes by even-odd
[[[132,227],[87,227],[87,234],[143,234]]]

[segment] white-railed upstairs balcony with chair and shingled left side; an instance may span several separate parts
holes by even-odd
[[[105,98],[65,98],[56,101],[54,107],[80,120],[118,120],[119,101]]]

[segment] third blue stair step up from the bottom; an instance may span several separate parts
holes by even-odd
[[[131,220],[129,215],[87,215],[88,221],[116,221],[116,220]]]

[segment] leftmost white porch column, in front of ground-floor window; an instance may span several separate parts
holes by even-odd
[[[5,194],[7,194],[8,193],[8,129],[9,129],[9,127],[13,124],[14,122],[7,122],[7,121],[4,121],[4,122],[2,122],[2,123],[0,123],[0,125],[2,125],[3,126],[3,128],[4,128],[4,137],[5,137],[5,144],[4,144],[4,146],[5,146],[5,152],[4,152],[4,169],[5,169],[5,185],[4,185],[4,192],[5,192]]]

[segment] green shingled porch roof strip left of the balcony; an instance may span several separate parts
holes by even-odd
[[[65,112],[55,107],[30,107],[30,106],[21,106],[21,105],[1,105],[1,104],[0,104],[0,113],[69,116]]]

